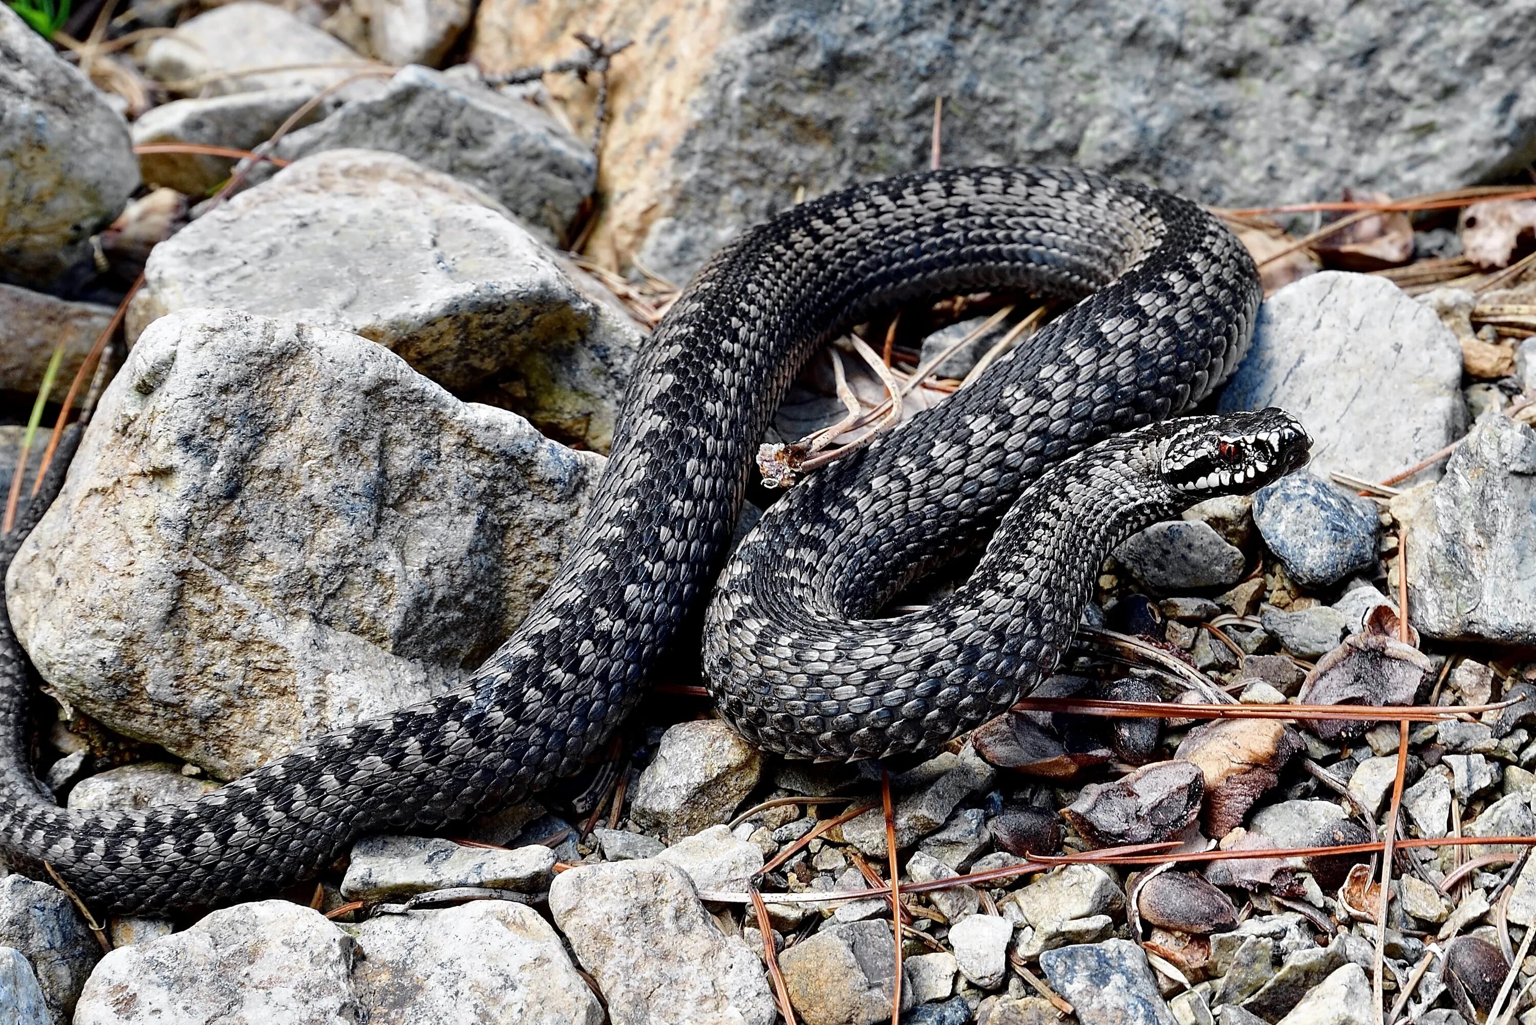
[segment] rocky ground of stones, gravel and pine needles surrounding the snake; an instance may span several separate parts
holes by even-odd
[[[1525,180],[1531,15],[825,6],[134,0],[58,46],[0,8],[0,495],[34,407],[75,381],[91,415],[8,578],[61,802],[195,799],[464,681],[558,566],[674,281],[925,166],[935,98],[945,163],[1221,204],[1269,297],[1215,404],[1301,416],[1310,470],[1127,541],[1057,704],[888,790],[762,756],[682,653],[582,776],[264,901],[97,924],[6,874],[0,1022],[868,1025],[899,987],[909,1025],[1536,1025],[1536,864],[1476,842],[1536,834],[1536,192],[1359,206]],[[859,332],[909,415],[1055,312]],[[837,344],[768,440],[839,424],[839,370],[885,396]],[[1379,708],[1286,708],[1338,704]],[[1385,890],[1318,850],[1390,834]]]

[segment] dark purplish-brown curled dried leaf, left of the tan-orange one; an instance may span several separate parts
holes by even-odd
[[[1204,793],[1197,765],[1154,762],[1112,784],[1083,787],[1061,814],[1098,847],[1154,844],[1193,822]]]

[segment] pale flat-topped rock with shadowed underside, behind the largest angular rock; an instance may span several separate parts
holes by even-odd
[[[611,295],[484,192],[358,149],[290,164],[155,246],[127,337],[189,306],[359,333],[599,452],[641,344]]]

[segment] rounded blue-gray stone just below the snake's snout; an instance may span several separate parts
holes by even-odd
[[[1303,587],[1329,587],[1376,564],[1376,504],[1310,473],[1261,487],[1253,526]]]

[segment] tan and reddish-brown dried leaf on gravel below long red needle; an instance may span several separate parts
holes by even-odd
[[[1215,719],[1190,730],[1174,756],[1200,767],[1206,831],[1226,836],[1301,747],[1296,731],[1278,719]]]

